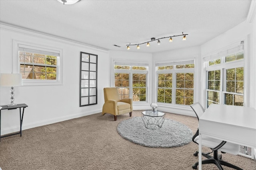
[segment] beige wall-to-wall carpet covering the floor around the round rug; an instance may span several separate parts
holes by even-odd
[[[132,117],[140,117],[141,112],[132,111]],[[24,116],[25,125],[29,115]],[[196,117],[172,113],[166,113],[165,117],[186,125],[193,134],[197,130]],[[193,153],[198,145],[194,142],[172,148],[137,145],[122,138],[116,130],[121,121],[130,118],[128,113],[114,121],[111,114],[97,113],[23,130],[22,137],[1,139],[0,167],[2,170],[193,170],[192,165],[198,161]],[[206,147],[202,150],[211,151]],[[256,169],[256,161],[244,156],[226,153],[222,159],[244,170]],[[218,170],[214,164],[202,167]],[[224,170],[234,169],[224,167]]]

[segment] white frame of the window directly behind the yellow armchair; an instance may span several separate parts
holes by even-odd
[[[115,65],[123,65],[123,66],[130,66],[130,69],[122,70],[122,69],[114,69]],[[145,66],[146,70],[132,70],[132,66]],[[129,74],[129,96],[132,98],[132,74],[146,74],[146,101],[133,101],[134,103],[148,103],[149,101],[149,94],[148,94],[148,84],[149,84],[149,63],[142,62],[142,61],[118,61],[113,60],[113,66],[112,66],[112,87],[115,87],[115,73],[127,73]]]

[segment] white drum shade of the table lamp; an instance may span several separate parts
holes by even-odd
[[[21,74],[1,74],[1,86],[22,86]]]

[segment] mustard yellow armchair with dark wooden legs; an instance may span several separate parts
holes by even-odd
[[[120,99],[118,90],[116,87],[104,88],[104,100],[105,103],[102,107],[102,115],[110,113],[114,115],[114,120],[116,121],[117,115],[122,115],[124,113],[130,113],[132,116],[132,99],[124,98]]]

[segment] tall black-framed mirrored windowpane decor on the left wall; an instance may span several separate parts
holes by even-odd
[[[98,55],[80,52],[80,107],[97,104]]]

